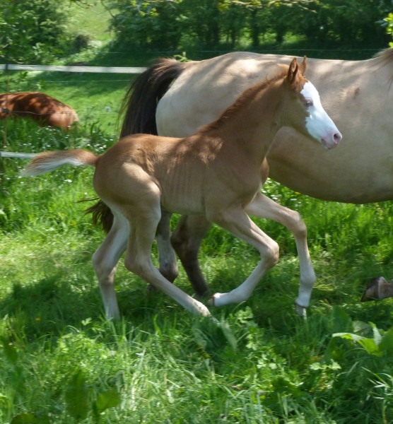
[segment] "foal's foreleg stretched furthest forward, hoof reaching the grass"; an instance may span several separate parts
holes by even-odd
[[[304,315],[305,308],[310,305],[311,292],[316,277],[307,247],[307,227],[300,214],[277,204],[262,193],[255,196],[252,203],[246,206],[245,211],[251,216],[275,220],[293,233],[300,264],[300,288],[295,305],[298,314]]]

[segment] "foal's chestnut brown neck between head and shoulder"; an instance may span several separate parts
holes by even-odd
[[[259,83],[242,93],[215,122],[199,132],[221,139],[223,147],[242,151],[259,166],[281,127],[283,76]]]

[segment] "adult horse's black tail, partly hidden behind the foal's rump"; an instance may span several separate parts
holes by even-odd
[[[129,86],[120,108],[123,117],[120,138],[130,134],[157,135],[156,110],[160,98],[165,95],[187,62],[175,59],[158,59],[158,62],[141,73]],[[93,223],[102,225],[105,232],[112,227],[113,215],[110,208],[101,200],[86,210],[93,213]]]

